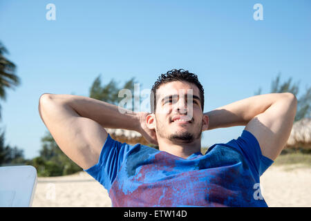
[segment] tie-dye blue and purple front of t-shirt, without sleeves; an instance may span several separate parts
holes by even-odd
[[[205,155],[176,157],[135,145],[115,178],[113,206],[267,206],[243,155],[215,144]]]

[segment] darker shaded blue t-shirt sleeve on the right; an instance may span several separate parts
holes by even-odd
[[[249,131],[243,130],[242,135],[238,139],[230,140],[227,142],[227,145],[238,149],[243,154],[255,177],[260,177],[274,162],[261,153],[258,140]]]

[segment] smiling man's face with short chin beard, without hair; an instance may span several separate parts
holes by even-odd
[[[157,90],[156,134],[173,143],[191,143],[202,133],[200,91],[187,81],[172,81]]]

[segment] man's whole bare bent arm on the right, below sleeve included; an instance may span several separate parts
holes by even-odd
[[[265,157],[275,160],[285,146],[294,116],[296,97],[291,93],[272,93],[248,97],[205,113],[209,127],[246,126],[261,146]]]

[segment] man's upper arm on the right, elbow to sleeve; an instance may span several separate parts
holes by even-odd
[[[288,141],[295,115],[296,97],[290,94],[256,115],[248,122],[245,130],[256,137],[262,154],[275,160]]]

